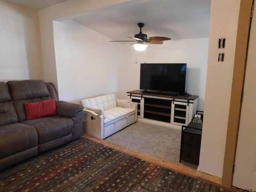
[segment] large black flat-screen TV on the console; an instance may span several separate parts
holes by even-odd
[[[184,93],[186,63],[140,64],[140,89]]]

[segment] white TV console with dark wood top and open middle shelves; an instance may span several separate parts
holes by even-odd
[[[166,94],[166,92],[134,90],[128,99],[138,104],[138,120],[178,128],[187,126],[196,114],[198,96]]]

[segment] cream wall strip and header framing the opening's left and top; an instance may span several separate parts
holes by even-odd
[[[44,79],[48,82],[52,82],[58,89],[53,34],[54,20],[67,20],[84,12],[101,9],[122,2],[129,3],[130,1],[131,0],[118,0],[118,2],[116,2],[116,0],[68,0],[48,8],[38,10]]]

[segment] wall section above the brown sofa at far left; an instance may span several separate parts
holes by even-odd
[[[44,79],[36,10],[0,0],[0,81]]]

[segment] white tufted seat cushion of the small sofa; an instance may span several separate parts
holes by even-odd
[[[133,111],[135,111],[135,109],[123,108],[123,107],[114,107],[114,108],[108,109],[108,110],[104,111],[106,114],[106,119],[104,119],[104,124],[111,120],[125,116],[126,114],[133,112]]]

